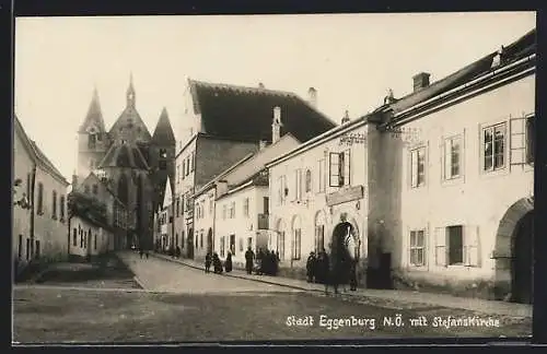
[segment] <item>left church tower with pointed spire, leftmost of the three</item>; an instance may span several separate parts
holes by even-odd
[[[98,92],[95,87],[88,115],[78,129],[78,168],[75,175],[79,180],[83,180],[98,167],[108,144]]]

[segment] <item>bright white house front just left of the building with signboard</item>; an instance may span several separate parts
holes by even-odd
[[[232,251],[233,263],[240,263],[241,266],[245,263],[245,250],[249,246],[249,238],[251,247],[256,251],[256,235],[260,232],[258,229],[258,214],[264,213],[263,198],[267,196],[267,187],[247,186],[224,194],[217,201],[214,213],[217,229],[214,234],[214,251],[219,253],[221,259],[225,259],[226,252],[230,250],[231,235],[235,236],[235,244]],[[247,214],[244,212],[246,199],[248,199]],[[233,217],[230,217],[232,203],[235,212],[232,214]],[[224,237],[224,243],[222,243],[222,237]],[[222,246],[224,246],[223,249]]]

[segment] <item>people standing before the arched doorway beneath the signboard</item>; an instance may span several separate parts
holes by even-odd
[[[325,292],[333,285],[338,293],[338,285],[349,283],[351,291],[357,291],[357,261],[349,257],[334,257],[331,260],[323,248],[318,255],[310,252],[306,262],[309,283],[325,284]]]

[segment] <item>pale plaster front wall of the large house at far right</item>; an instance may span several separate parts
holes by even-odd
[[[516,129],[511,126],[510,119],[533,114],[534,110],[535,76],[528,75],[403,127],[404,131],[418,132],[415,141],[405,144],[401,163],[389,165],[393,174],[400,174],[401,177],[399,202],[403,225],[395,234],[396,240],[400,243],[396,258],[400,258],[398,266],[407,276],[444,284],[461,280],[488,280],[497,273],[492,255],[500,222],[514,203],[533,196],[534,190],[533,167],[511,165],[515,160],[511,157],[509,148],[516,138],[510,132],[514,133]],[[505,166],[497,172],[485,173],[481,129],[501,122],[507,123]],[[513,121],[513,125],[516,122]],[[459,135],[463,143],[461,177],[446,180],[443,177],[445,157],[442,146],[444,139],[454,135]],[[416,146],[424,146],[427,151],[426,184],[411,188],[409,151]],[[396,215],[392,217],[396,219]],[[435,246],[439,246],[441,237],[439,231],[451,225],[463,225],[464,245],[477,247],[478,259],[472,264],[475,267],[437,264]],[[409,233],[412,229],[426,231],[427,256],[422,267],[409,264]]]

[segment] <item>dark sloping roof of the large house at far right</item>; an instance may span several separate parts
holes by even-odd
[[[536,50],[536,30],[532,30],[523,37],[519,38],[511,45],[503,47],[502,64],[511,63],[532,55]],[[466,66],[465,68],[441,79],[429,86],[410,93],[401,98],[398,98],[389,105],[389,108],[395,113],[403,111],[419,103],[428,101],[437,95],[453,90],[462,84],[465,84],[473,79],[476,79],[493,69],[491,69],[493,57],[497,52],[491,52],[484,58]],[[382,108],[382,107],[381,107]],[[379,108],[379,109],[381,109]]]

